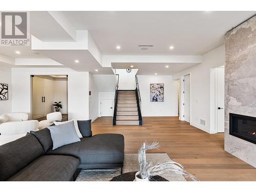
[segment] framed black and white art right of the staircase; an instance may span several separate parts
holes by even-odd
[[[163,102],[164,101],[163,83],[151,83],[150,84],[150,101],[151,102]]]

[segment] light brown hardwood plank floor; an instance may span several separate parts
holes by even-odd
[[[256,168],[224,151],[224,134],[208,134],[178,117],[144,117],[143,126],[113,126],[112,118],[98,118],[92,131],[123,134],[125,153],[157,140],[160,149],[150,153],[167,153],[200,181],[256,181]]]

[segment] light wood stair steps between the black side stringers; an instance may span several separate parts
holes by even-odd
[[[118,91],[116,125],[139,125],[135,91]]]

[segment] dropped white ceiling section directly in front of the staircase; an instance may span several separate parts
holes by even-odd
[[[139,69],[137,75],[174,75],[198,63],[112,63],[114,69]],[[165,66],[168,66],[166,68]]]

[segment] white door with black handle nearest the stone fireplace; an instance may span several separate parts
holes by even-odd
[[[217,132],[224,133],[224,68],[217,69]]]

